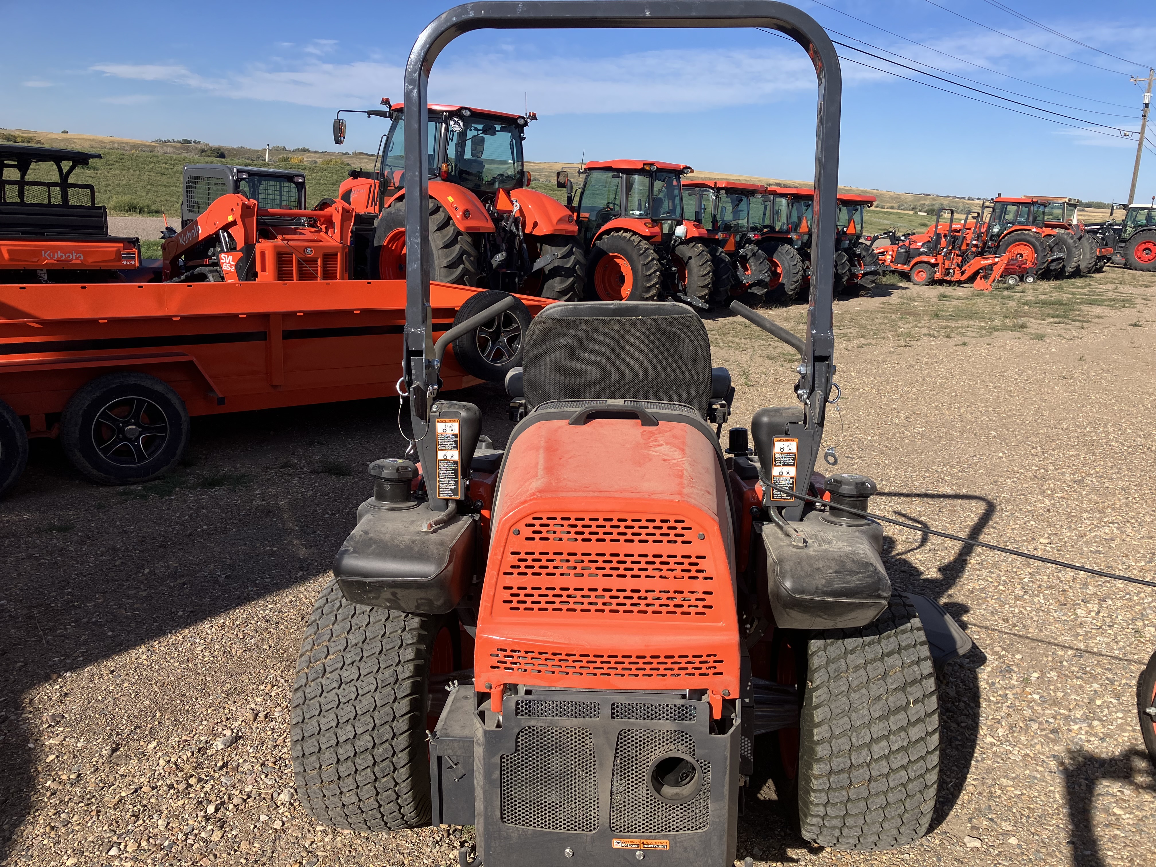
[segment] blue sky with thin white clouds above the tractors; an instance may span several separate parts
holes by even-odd
[[[1081,127],[845,62],[842,183],[958,195],[1127,197],[1136,140],[1118,129],[1139,128],[1142,91],[1128,77],[1156,64],[1151,0],[1002,2],[1119,59],[1015,17],[995,0],[823,2],[798,0],[846,35],[835,39],[942,77],[966,76],[969,87],[1079,118],[1054,119]],[[415,36],[449,6],[2,0],[9,38],[0,54],[0,126],[332,148],[333,111],[400,99]],[[795,179],[814,171],[814,74],[793,43],[757,31],[480,31],[443,52],[430,83],[443,102],[520,111],[528,98],[539,116],[529,160],[577,162],[585,150],[587,160],[667,160],[706,171]],[[346,147],[373,150],[383,131],[379,120],[355,119]],[[1148,138],[1156,142],[1156,131]],[[1156,144],[1146,151],[1138,200],[1156,195],[1154,151]]]

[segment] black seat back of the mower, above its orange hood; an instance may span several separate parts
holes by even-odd
[[[650,400],[705,417],[729,386],[726,369],[711,368],[698,314],[653,301],[550,304],[526,332],[523,368],[506,376],[506,391],[529,410],[557,400]]]

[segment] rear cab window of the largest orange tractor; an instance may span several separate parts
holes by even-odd
[[[521,186],[521,128],[486,118],[450,118],[445,180],[468,190],[513,190]]]

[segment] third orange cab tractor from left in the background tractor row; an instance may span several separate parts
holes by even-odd
[[[766,297],[771,260],[758,246],[761,229],[770,223],[770,197],[762,184],[690,180],[682,185],[682,210],[706,229],[714,265],[712,304],[729,304],[732,296],[749,296],[753,304]]]

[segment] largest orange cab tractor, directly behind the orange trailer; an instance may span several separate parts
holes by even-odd
[[[390,120],[371,171],[354,170],[339,198],[357,212],[353,255],[373,277],[406,267],[403,106],[383,99],[364,112]],[[350,112],[354,113],[354,112]],[[333,140],[346,139],[346,120]],[[556,301],[581,296],[586,253],[573,212],[529,190],[523,163],[526,127],[536,119],[466,105],[428,106],[427,154],[431,279]]]

